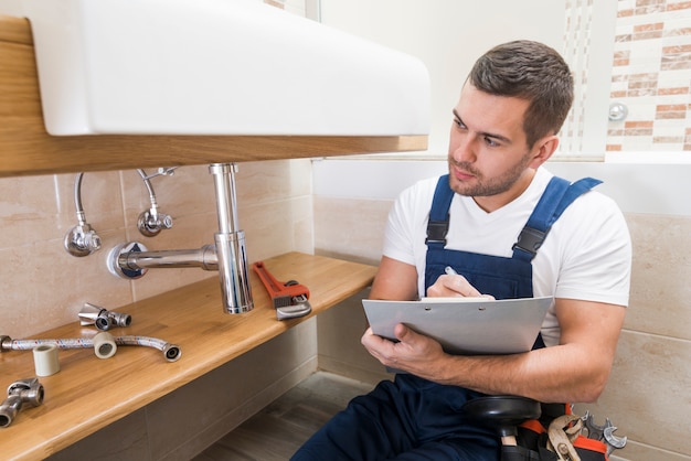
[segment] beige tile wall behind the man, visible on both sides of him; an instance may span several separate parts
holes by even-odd
[[[376,262],[390,200],[315,196],[315,251]],[[691,216],[627,214],[634,243],[630,307],[607,389],[589,409],[628,437],[613,460],[691,459]],[[358,232],[353,232],[358,229]],[[366,293],[361,293],[362,297]],[[362,307],[350,300],[318,318],[319,365],[374,383],[382,367],[360,345]],[[617,458],[618,457],[618,458]]]

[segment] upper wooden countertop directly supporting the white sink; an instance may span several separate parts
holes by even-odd
[[[50,136],[29,21],[0,14],[0,178],[427,149],[427,136]]]

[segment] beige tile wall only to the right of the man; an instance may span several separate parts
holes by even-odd
[[[609,384],[593,414],[609,416],[628,460],[689,460],[691,217],[628,214],[631,301]],[[604,420],[599,421],[604,424]]]

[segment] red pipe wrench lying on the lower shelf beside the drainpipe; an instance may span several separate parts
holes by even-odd
[[[263,261],[252,265],[254,271],[259,276],[264,288],[272,297],[274,309],[276,309],[276,319],[294,319],[296,317],[307,315],[312,311],[309,304],[309,289],[298,283],[296,280],[280,282],[268,271]]]

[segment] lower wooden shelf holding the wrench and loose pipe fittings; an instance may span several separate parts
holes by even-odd
[[[119,309],[105,307],[132,317],[130,326],[109,330],[114,336],[164,340],[180,346],[180,360],[167,362],[162,352],[140,346],[118,346],[117,353],[105,360],[97,358],[93,349],[61,350],[61,371],[39,378],[45,388],[43,405],[22,409],[9,427],[0,429],[0,458],[43,459],[53,454],[357,293],[372,282],[376,270],[300,253],[264,262],[278,280],[295,279],[309,288],[310,315],[276,320],[268,294],[252,269],[255,307],[248,313],[223,312],[215,277]],[[34,337],[91,337],[96,332],[75,319]],[[11,332],[0,334],[11,336]],[[11,383],[34,374],[30,351],[0,353],[2,398]]]

